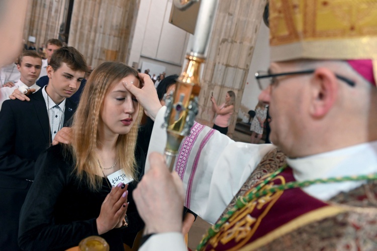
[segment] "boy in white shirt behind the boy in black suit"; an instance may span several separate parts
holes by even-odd
[[[4,87],[0,89],[0,109],[5,100],[9,99],[9,95],[15,89],[23,88],[28,91],[29,89],[39,90],[40,87],[35,84],[42,67],[41,56],[35,51],[24,51],[18,58],[17,70],[20,72],[20,80],[15,83],[13,87]]]

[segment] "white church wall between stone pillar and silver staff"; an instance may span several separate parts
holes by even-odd
[[[171,0],[141,0],[129,65],[144,70],[147,62],[164,66],[167,75],[181,72],[189,34],[168,22],[171,6]]]

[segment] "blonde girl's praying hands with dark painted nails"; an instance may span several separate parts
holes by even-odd
[[[101,206],[100,216],[96,220],[99,234],[123,226],[123,219],[126,216],[128,208],[127,187],[128,185],[119,183],[106,196]]]

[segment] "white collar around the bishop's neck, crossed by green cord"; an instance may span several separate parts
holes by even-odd
[[[292,167],[297,181],[367,175],[377,173],[376,153],[377,141],[374,141],[304,158],[287,158],[287,163]],[[348,192],[364,183],[364,181],[344,181],[315,184],[303,190],[313,197],[328,200],[340,192]]]

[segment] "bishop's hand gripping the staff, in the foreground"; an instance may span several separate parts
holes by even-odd
[[[150,155],[150,170],[133,192],[137,210],[145,222],[145,234],[182,230],[183,186],[176,172],[170,173],[164,156]]]

